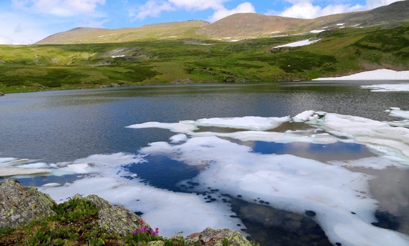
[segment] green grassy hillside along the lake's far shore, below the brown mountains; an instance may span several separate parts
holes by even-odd
[[[272,47],[308,38],[319,42]],[[0,91],[291,81],[409,70],[409,23],[223,42],[206,39],[0,45]]]

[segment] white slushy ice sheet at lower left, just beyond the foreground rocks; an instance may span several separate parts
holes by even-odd
[[[95,157],[90,156],[81,161],[100,159],[100,163],[94,162],[96,166],[101,167],[101,173],[98,175],[63,186],[46,184],[38,187],[38,190],[50,194],[57,202],[66,201],[76,193],[84,196],[97,194],[113,204],[142,212],[142,218],[152,227],[160,228],[161,236],[165,237],[177,233],[189,235],[202,231],[207,226],[234,230],[245,228],[237,226],[243,224],[239,219],[231,217],[234,214],[226,204],[205,203],[196,194],[175,193],[144,185],[138,179],[128,180],[121,177],[117,167],[123,164],[124,159],[129,162],[138,161],[139,159],[133,155],[113,154]],[[103,160],[104,157],[110,160],[109,165]]]

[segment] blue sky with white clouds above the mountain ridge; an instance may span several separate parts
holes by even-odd
[[[0,0],[0,44],[30,44],[77,27],[116,29],[234,13],[298,18],[362,11],[398,0]]]

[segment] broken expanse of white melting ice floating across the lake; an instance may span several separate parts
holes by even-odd
[[[393,112],[405,115],[405,111],[397,108],[390,110]],[[283,124],[307,124],[309,129],[283,131],[280,129]],[[408,168],[407,128],[313,110],[293,117],[145,122],[128,128],[163,128],[175,135],[169,141],[147,143],[137,154],[93,155],[54,164],[20,163],[12,168],[48,167],[56,176],[78,174],[81,177],[77,180],[65,184],[49,182],[39,190],[49,193],[57,202],[75,193],[100,195],[113,204],[142,212],[142,218],[159,227],[163,236],[188,235],[207,226],[244,229],[229,203],[222,202],[229,200],[224,195],[229,194],[247,202],[262,200],[264,205],[313,216],[334,244],[409,245],[407,235],[372,225],[376,222],[378,201],[371,195],[369,182],[375,177],[349,169]],[[230,131],[217,132],[217,128]],[[322,162],[290,154],[260,153],[254,148],[257,142],[307,142],[321,144],[323,148],[337,142],[354,143],[367,146],[373,155]],[[130,169],[134,165],[153,166],[151,156],[166,156],[185,163],[197,169],[198,174],[180,180],[177,183],[182,187],[180,192],[153,187]],[[15,159],[1,158],[0,167],[11,161]]]

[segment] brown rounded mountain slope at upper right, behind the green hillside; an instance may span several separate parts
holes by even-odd
[[[409,0],[360,12],[297,19],[254,13],[234,14],[196,29],[211,38],[252,38],[307,33],[312,30],[409,21]],[[342,25],[341,25],[342,24]]]

